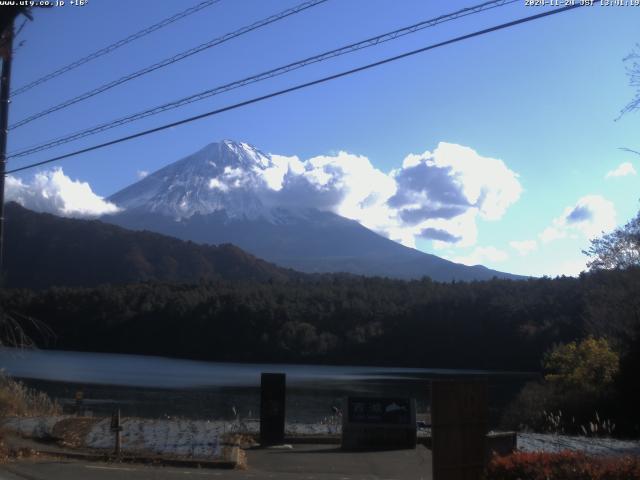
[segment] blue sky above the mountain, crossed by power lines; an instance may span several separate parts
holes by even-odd
[[[15,55],[12,84],[20,87],[196,3],[89,0],[84,7],[36,11],[34,21],[18,39],[24,44]],[[221,0],[17,96],[11,104],[10,123],[297,3]],[[475,4],[329,0],[12,130],[9,152]],[[472,15],[73,144],[10,160],[9,168],[545,8],[549,7],[526,7],[523,0]],[[423,176],[416,176],[415,181],[429,180],[429,172],[436,168],[448,168],[455,173],[461,191],[468,193],[480,182],[476,187],[501,192],[493,203],[489,195],[484,206],[467,210],[466,217],[421,225],[421,231],[444,231],[457,242],[434,242],[428,235],[412,234],[417,248],[520,274],[575,274],[584,268],[580,251],[588,246],[588,238],[603,228],[624,224],[640,208],[640,180],[633,173],[640,169],[640,156],[619,149],[640,150],[640,113],[615,121],[634,95],[622,60],[640,42],[639,22],[640,7],[594,6],[561,13],[68,159],[59,164],[66,180],[60,180],[60,173],[57,178],[77,191],[84,188],[77,182],[87,182],[96,195],[104,197],[135,182],[139,172],[156,170],[208,143],[231,138],[267,153],[295,156],[301,162],[312,158],[338,161],[339,152],[347,152],[351,157],[343,155],[340,161],[365,158],[370,167],[363,168],[387,175],[402,188],[401,174],[409,175],[411,168],[417,172],[417,164],[405,162],[403,170],[403,162],[415,155],[415,161],[424,166]],[[456,150],[458,147],[467,150]],[[469,156],[466,163],[458,157],[464,152]],[[607,177],[629,162],[631,168],[623,166],[620,175]],[[315,162],[316,166],[320,163]],[[39,171],[49,172],[46,178],[51,181],[52,168]],[[45,181],[34,181],[36,172],[23,172],[18,178],[30,188],[42,188]],[[359,178],[365,177],[352,172],[344,178],[355,190]],[[480,202],[470,195],[469,203]],[[416,198],[412,201],[418,205],[421,200]],[[375,222],[369,223],[373,226]],[[388,229],[384,231],[389,234]]]

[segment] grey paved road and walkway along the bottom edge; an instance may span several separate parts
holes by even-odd
[[[71,460],[23,460],[0,466],[0,480],[431,480],[431,452],[342,452],[334,445],[250,450],[246,470],[206,470]]]

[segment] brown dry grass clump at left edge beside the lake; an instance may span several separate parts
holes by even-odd
[[[0,419],[8,416],[60,415],[58,402],[0,371]]]

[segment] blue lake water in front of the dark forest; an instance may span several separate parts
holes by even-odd
[[[416,398],[429,404],[430,381],[442,377],[488,379],[493,417],[531,375],[482,370],[362,366],[219,363],[140,355],[0,350],[0,368],[46,391],[67,410],[82,390],[95,415],[120,408],[142,417],[231,418],[259,416],[260,374],[287,375],[287,418],[316,422],[348,395]]]

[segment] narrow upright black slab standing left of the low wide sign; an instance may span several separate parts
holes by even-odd
[[[284,443],[286,375],[263,373],[260,379],[260,443]]]

